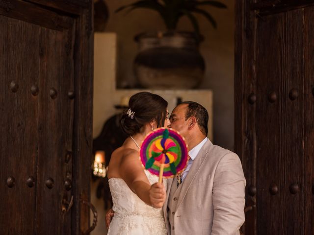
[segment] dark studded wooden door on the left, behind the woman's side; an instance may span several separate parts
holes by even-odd
[[[89,227],[92,1],[0,1],[0,234]]]

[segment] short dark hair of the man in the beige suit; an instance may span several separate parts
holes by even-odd
[[[181,104],[187,104],[187,110],[185,112],[185,120],[190,117],[195,117],[196,122],[201,130],[201,132],[207,136],[208,134],[208,112],[199,103],[193,101],[185,101]]]

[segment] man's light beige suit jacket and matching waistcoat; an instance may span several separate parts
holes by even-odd
[[[208,140],[183,184],[177,188],[174,178],[167,186],[163,212],[168,235],[239,234],[244,223],[245,178],[235,153]]]

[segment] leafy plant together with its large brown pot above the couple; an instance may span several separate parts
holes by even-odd
[[[134,71],[142,87],[190,89],[201,83],[205,63],[198,46],[203,37],[195,14],[203,15],[216,28],[213,17],[202,9],[205,6],[226,8],[225,4],[213,0],[139,0],[116,10],[155,10],[167,28],[165,32],[135,36],[139,52],[134,60]],[[194,32],[176,30],[184,16],[190,20]]]

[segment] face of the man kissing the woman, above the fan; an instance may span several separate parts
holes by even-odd
[[[179,131],[180,134],[186,138],[188,129],[188,120],[185,120],[185,113],[187,111],[188,104],[178,105],[171,113],[170,122],[171,128]]]

